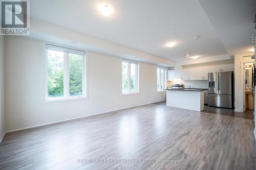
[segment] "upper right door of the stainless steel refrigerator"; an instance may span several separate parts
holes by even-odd
[[[232,94],[232,72],[219,72],[219,94]]]

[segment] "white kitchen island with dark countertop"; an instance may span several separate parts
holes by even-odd
[[[202,111],[204,109],[204,89],[167,88],[166,106]]]

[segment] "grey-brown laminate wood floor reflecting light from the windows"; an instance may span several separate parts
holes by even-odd
[[[253,126],[150,104],[7,133],[0,169],[256,169]]]

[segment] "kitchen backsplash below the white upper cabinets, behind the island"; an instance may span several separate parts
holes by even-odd
[[[173,84],[184,84],[184,87],[191,86],[191,88],[208,88],[207,80],[190,80],[183,81],[181,78],[167,81],[167,87],[172,87]]]

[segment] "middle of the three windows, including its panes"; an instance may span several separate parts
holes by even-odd
[[[122,60],[122,94],[139,92],[139,63]]]

